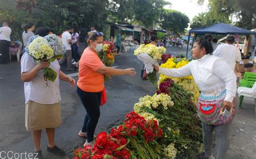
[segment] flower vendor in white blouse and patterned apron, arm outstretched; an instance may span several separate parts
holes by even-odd
[[[217,138],[217,159],[225,158],[228,150],[228,134],[235,115],[233,100],[237,91],[237,78],[224,59],[211,55],[211,35],[195,41],[194,59],[179,69],[165,69],[154,66],[159,74],[170,77],[192,75],[201,94],[198,99],[198,115],[203,127],[204,151],[200,158],[212,156],[213,131]]]

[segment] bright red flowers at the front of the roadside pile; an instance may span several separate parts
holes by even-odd
[[[156,138],[160,138],[162,135],[163,130],[159,128],[156,120],[146,121],[144,117],[131,112],[126,114],[124,125],[112,128],[110,134],[106,132],[99,133],[93,147],[85,146],[83,149],[77,149],[75,151],[75,159],[101,159],[105,156],[113,159],[129,159],[131,156],[129,149],[134,149],[129,144],[131,139],[133,142],[146,144]]]

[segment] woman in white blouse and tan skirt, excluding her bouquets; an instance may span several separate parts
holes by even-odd
[[[39,27],[35,34],[44,37],[49,32],[49,28]],[[43,69],[46,67],[53,69],[57,73],[56,80],[48,82],[49,86],[47,87],[45,86],[43,74]],[[40,144],[42,129],[45,129],[48,137],[47,150],[53,154],[65,156],[65,151],[55,145],[55,128],[60,126],[62,120],[59,81],[66,81],[71,86],[74,86],[75,79],[65,75],[60,70],[57,60],[51,63],[45,61],[36,63],[26,52],[21,59],[21,79],[24,82],[26,104],[25,126],[27,131],[31,131],[32,134],[35,145],[34,157],[43,158]]]

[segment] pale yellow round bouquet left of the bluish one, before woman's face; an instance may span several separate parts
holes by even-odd
[[[37,37],[29,45],[29,55],[36,60],[52,59],[54,56],[52,48],[49,46],[48,41],[43,37]]]

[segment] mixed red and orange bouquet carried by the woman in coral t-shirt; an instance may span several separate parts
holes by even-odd
[[[102,51],[97,53],[100,60],[102,60],[104,65],[107,67],[112,67],[114,63],[115,53],[112,53],[112,50],[113,50],[113,44],[111,42],[104,41]],[[111,78],[111,76],[104,75],[104,81],[107,81],[109,78]]]

